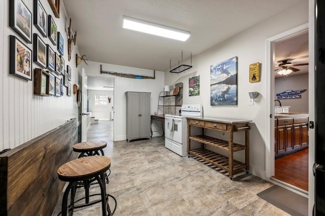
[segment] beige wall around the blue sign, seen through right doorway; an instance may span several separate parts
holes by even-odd
[[[307,89],[301,93],[301,98],[297,99],[281,99],[282,106],[290,106],[289,113],[308,113],[308,74],[301,74],[289,77],[279,77],[275,79],[274,98],[277,98],[276,94],[284,92],[286,90],[301,90]],[[275,105],[279,105],[278,102]]]

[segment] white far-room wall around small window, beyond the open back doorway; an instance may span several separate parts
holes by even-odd
[[[88,90],[87,96],[91,116],[98,120],[110,120],[112,101],[107,105],[95,105],[95,94],[107,94],[108,97],[112,97],[114,96],[114,91]]]

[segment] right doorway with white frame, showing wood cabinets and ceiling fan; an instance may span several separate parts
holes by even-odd
[[[294,124],[293,120],[294,117],[307,116],[304,130],[307,129],[308,139],[308,124],[306,124],[308,123],[308,57],[308,24],[267,40],[267,66],[270,78],[267,87],[270,95],[267,102],[267,106],[270,107],[267,115],[267,123],[269,123],[267,140],[270,142],[267,143],[266,149],[266,177],[272,183],[304,196],[308,196],[308,145],[301,145],[298,131],[302,131],[302,123],[300,122],[298,127],[298,122]],[[283,69],[290,69],[290,74],[279,75],[281,73],[278,72]],[[283,72],[287,71],[283,70]],[[300,83],[303,83],[303,86]],[[305,91],[287,93],[288,90]],[[304,116],[300,116],[301,114]],[[300,142],[298,144],[297,137]],[[300,159],[296,160],[295,156],[299,158],[299,154]],[[291,173],[294,169],[293,173],[302,173],[297,168],[297,166],[301,167],[299,160],[303,160],[306,166],[303,187],[295,182],[295,177]]]

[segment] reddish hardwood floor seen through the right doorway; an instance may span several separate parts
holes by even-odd
[[[308,149],[276,159],[273,177],[308,191]]]

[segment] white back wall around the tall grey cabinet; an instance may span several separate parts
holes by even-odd
[[[107,74],[101,74],[100,65],[103,70],[114,71],[124,74],[136,74],[153,76],[153,70],[126,67],[100,62],[89,62],[84,65],[88,76],[114,78],[114,141],[126,139],[126,91],[151,92],[150,114],[157,111],[158,95],[164,90],[164,76],[162,71],[155,71],[155,79],[130,79]],[[161,130],[158,123],[153,123],[153,131]],[[159,133],[154,133],[159,135]],[[160,134],[161,135],[161,134]]]

